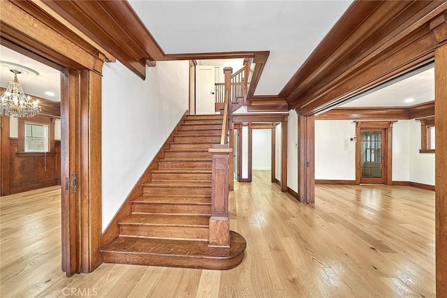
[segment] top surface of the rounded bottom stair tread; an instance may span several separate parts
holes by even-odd
[[[209,247],[207,241],[146,239],[137,237],[117,237],[105,246],[103,253],[128,253],[138,255],[170,255],[200,258],[226,259],[244,253],[247,243],[236,232],[230,231],[230,247]]]

